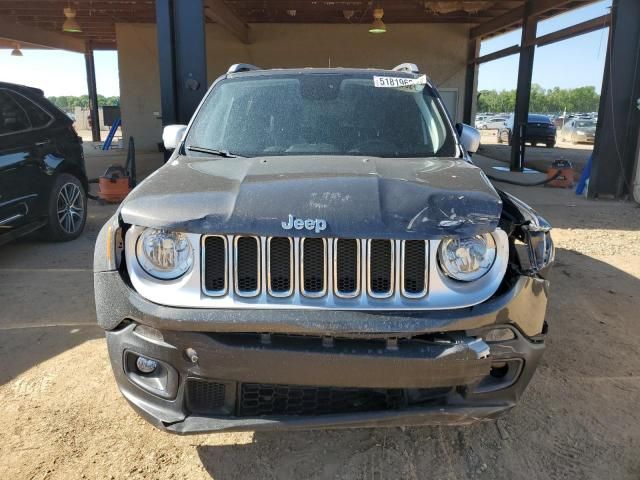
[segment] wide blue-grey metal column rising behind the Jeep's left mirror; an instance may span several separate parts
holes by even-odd
[[[156,0],[162,125],[187,124],[207,89],[202,0]]]

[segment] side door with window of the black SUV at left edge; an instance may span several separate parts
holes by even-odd
[[[34,128],[15,95],[0,89],[0,234],[39,216],[46,203],[41,165],[47,139],[40,138],[46,131]]]

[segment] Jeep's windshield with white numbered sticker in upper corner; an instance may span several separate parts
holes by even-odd
[[[456,143],[426,77],[285,74],[220,81],[185,145],[265,155],[455,156]],[[375,85],[374,85],[375,82]]]

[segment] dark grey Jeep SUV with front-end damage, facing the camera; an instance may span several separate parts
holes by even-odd
[[[550,226],[415,66],[234,65],[95,249],[129,403],[175,433],[466,424],[544,349]]]

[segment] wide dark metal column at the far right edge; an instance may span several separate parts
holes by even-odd
[[[640,130],[640,2],[614,0],[589,197],[632,193]]]

